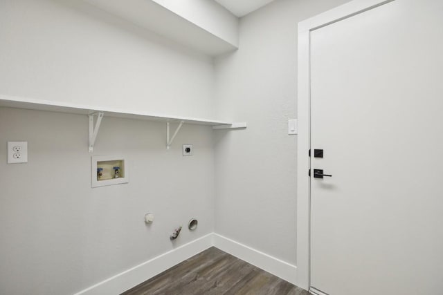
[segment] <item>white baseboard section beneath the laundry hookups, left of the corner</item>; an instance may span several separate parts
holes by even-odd
[[[211,233],[107,278],[75,295],[120,294],[212,246],[213,234]]]

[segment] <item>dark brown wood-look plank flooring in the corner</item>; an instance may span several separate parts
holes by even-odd
[[[123,295],[308,295],[303,289],[215,247]]]

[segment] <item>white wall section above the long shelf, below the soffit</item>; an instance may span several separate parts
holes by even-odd
[[[209,57],[83,1],[0,0],[2,94],[211,117],[213,81]]]

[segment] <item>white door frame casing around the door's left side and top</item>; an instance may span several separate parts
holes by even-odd
[[[354,0],[298,23],[298,151],[297,151],[297,278],[298,287],[309,289],[310,240],[310,43],[311,32],[331,23],[396,0]]]

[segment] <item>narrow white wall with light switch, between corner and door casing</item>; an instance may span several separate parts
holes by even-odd
[[[346,0],[278,0],[240,19],[239,50],[216,60],[215,232],[296,265],[297,23]],[[307,173],[307,171],[300,171]]]

